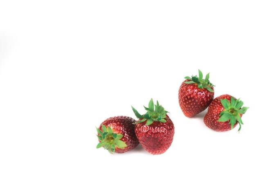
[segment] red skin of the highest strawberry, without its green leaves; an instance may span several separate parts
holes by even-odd
[[[186,79],[184,82],[190,81]],[[198,84],[186,84],[182,82],[179,89],[179,104],[183,114],[186,117],[193,117],[194,115],[204,111],[214,97],[214,92],[208,91],[206,88],[198,88]],[[212,90],[213,87],[211,87]]]

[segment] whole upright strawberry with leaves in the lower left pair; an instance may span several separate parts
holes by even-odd
[[[132,107],[133,112],[139,121],[136,122],[135,134],[142,147],[153,155],[164,153],[173,142],[174,125],[166,115],[167,111],[162,106],[155,105],[153,99],[150,100],[146,114],[140,115]]]

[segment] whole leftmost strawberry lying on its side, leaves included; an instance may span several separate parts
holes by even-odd
[[[124,153],[135,148],[139,141],[135,136],[136,120],[127,116],[110,117],[103,121],[97,129],[99,144],[110,153]]]

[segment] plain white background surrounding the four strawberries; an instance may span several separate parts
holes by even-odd
[[[0,169],[255,167],[254,1],[0,1]],[[244,126],[215,132],[178,104],[185,76],[241,97]],[[162,155],[110,155],[95,126],[150,98],[175,125]],[[250,155],[251,154],[251,155]],[[91,168],[90,168],[91,169]]]

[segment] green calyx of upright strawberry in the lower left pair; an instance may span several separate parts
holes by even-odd
[[[155,106],[155,107],[154,107]],[[137,121],[135,124],[139,124],[143,121],[146,121],[146,125],[152,124],[154,121],[160,121],[162,123],[166,122],[166,113],[168,113],[162,105],[159,106],[159,103],[157,101],[157,104],[154,105],[153,99],[151,98],[148,108],[144,106],[144,108],[147,110],[147,112],[144,115],[140,115],[138,111],[132,107],[133,112],[135,113],[136,117],[138,119],[141,119]]]

